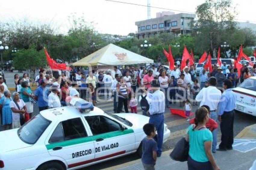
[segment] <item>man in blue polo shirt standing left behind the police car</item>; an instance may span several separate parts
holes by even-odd
[[[39,107],[39,111],[48,109],[48,88],[46,88],[46,79],[42,79],[40,86],[36,88],[35,91],[35,100]]]

